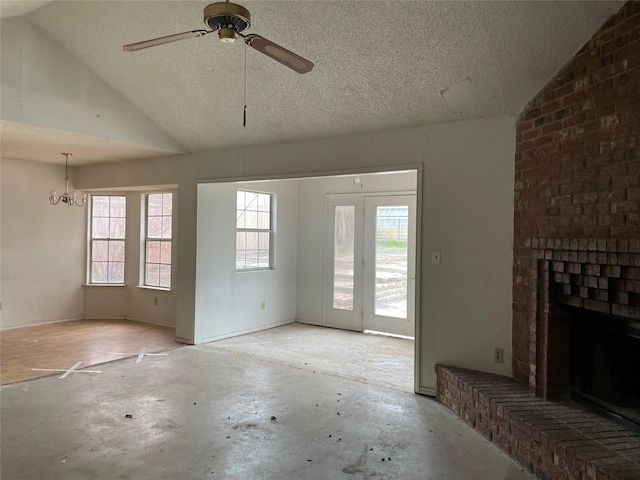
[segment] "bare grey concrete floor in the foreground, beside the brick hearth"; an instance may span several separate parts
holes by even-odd
[[[214,344],[168,353],[1,387],[1,478],[533,478],[401,388]]]

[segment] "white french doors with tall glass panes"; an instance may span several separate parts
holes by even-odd
[[[415,195],[327,197],[324,323],[414,336]]]

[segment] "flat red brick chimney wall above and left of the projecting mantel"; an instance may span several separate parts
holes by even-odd
[[[516,130],[513,372],[535,376],[535,239],[640,238],[640,2],[527,105]]]

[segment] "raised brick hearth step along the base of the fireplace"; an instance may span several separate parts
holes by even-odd
[[[639,480],[640,435],[510,377],[436,366],[438,401],[544,480]]]

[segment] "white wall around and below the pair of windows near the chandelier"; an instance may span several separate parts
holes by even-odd
[[[174,188],[161,191],[173,193],[173,238],[172,258],[176,258],[178,232],[175,228],[178,211],[178,195]],[[175,326],[176,324],[176,271],[171,270],[171,291],[141,287],[143,279],[144,244],[144,204],[143,194],[152,192],[102,192],[104,194],[121,194],[127,196],[127,231],[125,241],[125,283],[122,286],[86,285],[84,317],[87,319],[128,319],[159,325]]]

